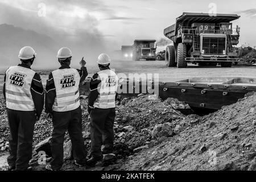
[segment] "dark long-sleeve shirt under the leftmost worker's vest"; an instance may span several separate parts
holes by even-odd
[[[31,69],[26,64],[19,64],[18,66]],[[3,96],[6,99],[5,81],[6,81],[6,74],[5,74],[4,83],[3,83]],[[32,95],[32,100],[34,101],[36,115],[40,117],[44,108],[44,88],[43,88],[42,80],[38,73],[35,73],[32,79],[30,92]]]

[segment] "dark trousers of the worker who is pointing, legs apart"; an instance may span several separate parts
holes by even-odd
[[[63,165],[63,144],[67,130],[71,138],[73,157],[77,163],[84,164],[86,162],[86,149],[84,139],[82,139],[81,107],[72,111],[53,111],[52,122],[52,169],[60,169]]]

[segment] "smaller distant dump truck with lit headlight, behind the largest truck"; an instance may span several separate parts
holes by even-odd
[[[156,40],[134,40],[133,60],[155,60]]]

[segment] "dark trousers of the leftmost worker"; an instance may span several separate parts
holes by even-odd
[[[32,158],[35,111],[7,109],[7,115],[10,127],[10,156],[7,158],[7,162],[16,170],[23,171],[28,168],[28,163]]]

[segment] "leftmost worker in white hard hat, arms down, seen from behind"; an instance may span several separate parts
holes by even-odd
[[[10,126],[9,170],[31,169],[34,126],[44,106],[44,89],[38,73],[32,71],[36,53],[32,47],[19,52],[21,64],[10,67],[5,73],[3,95],[6,100]]]

